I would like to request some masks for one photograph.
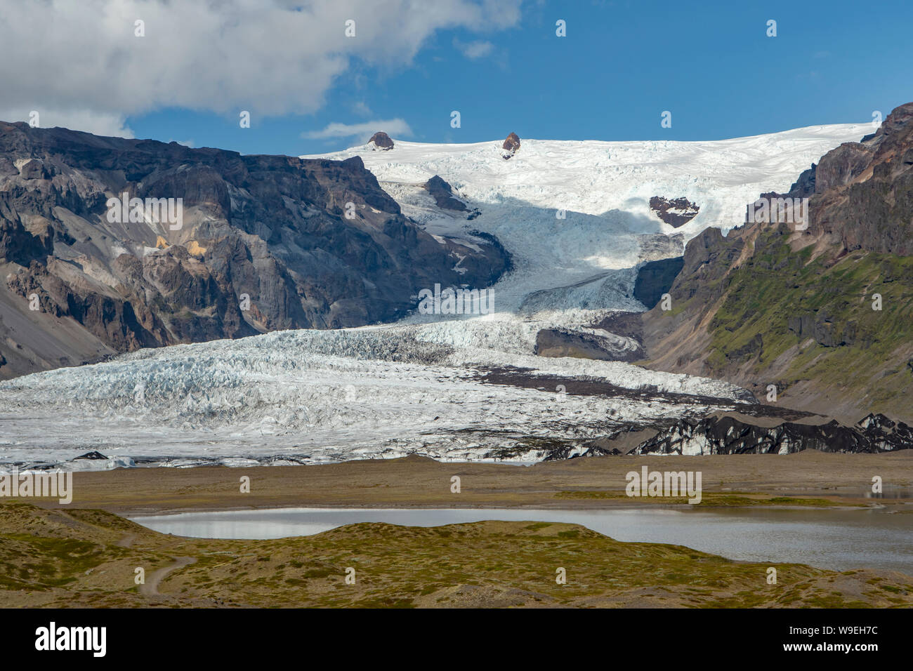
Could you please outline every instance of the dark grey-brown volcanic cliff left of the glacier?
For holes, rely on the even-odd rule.
[[[112,222],[121,194],[180,198],[182,221]],[[422,288],[494,282],[508,259],[488,240],[477,247],[426,234],[357,157],[0,122],[0,378],[140,347],[394,320]]]

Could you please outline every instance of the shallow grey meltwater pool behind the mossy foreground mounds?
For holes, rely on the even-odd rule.
[[[913,511],[890,513],[880,508],[268,508],[131,519],[162,533],[219,539],[308,536],[358,522],[413,527],[483,519],[569,522],[615,540],[685,545],[733,560],[913,575]]]

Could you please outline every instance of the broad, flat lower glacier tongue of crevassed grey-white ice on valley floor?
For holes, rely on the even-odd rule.
[[[523,324],[510,333],[492,321],[507,344],[488,349],[467,342],[458,323],[280,331],[16,378],[0,383],[0,449],[5,461],[19,463],[66,461],[88,450],[176,464],[413,452],[537,461],[550,454],[542,441],[580,446],[623,420],[673,419],[708,407],[669,401],[668,393],[718,397],[720,406],[740,397],[737,387],[703,378],[518,353]],[[504,367],[551,382],[542,390],[483,381]],[[652,385],[656,393],[577,395],[581,380],[632,391]]]

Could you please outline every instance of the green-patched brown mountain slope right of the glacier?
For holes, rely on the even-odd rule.
[[[850,423],[870,412],[909,422],[913,103],[828,152],[788,195],[810,198],[805,230],[762,221],[690,241],[672,309],[638,327],[648,365],[761,400],[772,384],[776,403]]]

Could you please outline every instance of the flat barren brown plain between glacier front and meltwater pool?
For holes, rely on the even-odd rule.
[[[913,485],[913,450],[893,454],[600,456],[530,467],[440,463],[420,456],[291,467],[132,468],[74,474],[72,506],[118,514],[284,506],[593,508],[656,505],[627,498],[625,474],[647,466],[700,471],[700,505],[814,498],[834,505],[903,505],[907,498],[866,498],[872,478],[889,488]],[[451,492],[451,477],[460,492]],[[240,478],[250,478],[242,494]],[[57,507],[50,499],[38,505]],[[778,501],[782,505],[782,501]],[[801,505],[801,501],[796,501]],[[687,505],[687,504],[685,504]]]

